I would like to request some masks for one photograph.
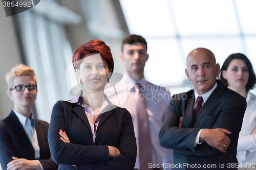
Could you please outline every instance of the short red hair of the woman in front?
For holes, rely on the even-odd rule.
[[[99,39],[94,39],[92,41],[84,43],[76,49],[72,56],[72,62],[75,70],[79,69],[80,67],[80,62],[77,61],[83,59],[85,54],[91,53],[100,53],[101,57],[103,57],[108,63],[109,69],[112,68],[111,72],[113,72],[114,60],[111,54],[110,47],[106,45],[104,41],[101,41]]]

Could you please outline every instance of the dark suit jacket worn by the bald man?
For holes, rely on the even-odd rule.
[[[225,87],[221,81],[217,80],[217,83],[217,88],[200,109],[194,125],[192,120],[194,90],[175,94],[172,97],[168,115],[159,133],[159,141],[162,147],[174,149],[174,164],[178,167],[176,169],[185,169],[185,166],[178,166],[179,163],[200,164],[201,168],[204,164],[216,164],[215,169],[229,169],[229,167],[237,169],[232,168],[234,166],[231,165],[238,162],[237,143],[246,110],[246,100]],[[178,128],[181,116],[183,117],[182,128]],[[231,143],[226,153],[210,147],[206,142],[197,144],[194,148],[194,140],[199,130],[205,128],[223,128],[231,132],[231,135],[228,135]],[[223,163],[225,168],[220,168],[220,164]],[[190,169],[189,166],[187,169]],[[200,169],[199,166],[196,169]]]

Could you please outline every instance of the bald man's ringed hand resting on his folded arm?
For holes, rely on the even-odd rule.
[[[227,135],[230,135],[226,129],[203,129],[200,134],[199,142],[205,141],[211,147],[218,149],[219,151],[226,153],[227,148],[231,142]]]

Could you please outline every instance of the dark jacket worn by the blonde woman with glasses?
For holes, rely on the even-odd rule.
[[[35,124],[40,148],[39,161],[45,170],[57,169],[58,165],[51,159],[47,139],[49,124],[39,119],[35,119]],[[12,156],[35,160],[34,148],[13,111],[0,122],[0,163],[4,170],[7,168],[7,164],[13,160]]]

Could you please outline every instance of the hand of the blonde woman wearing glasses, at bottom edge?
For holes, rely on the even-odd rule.
[[[20,170],[32,170],[36,169],[39,170],[41,169],[39,163],[37,160],[28,160],[28,159],[23,159],[23,158],[16,158],[12,157],[13,161],[9,162],[7,164],[7,169],[8,170],[15,170],[15,169],[20,169]]]

